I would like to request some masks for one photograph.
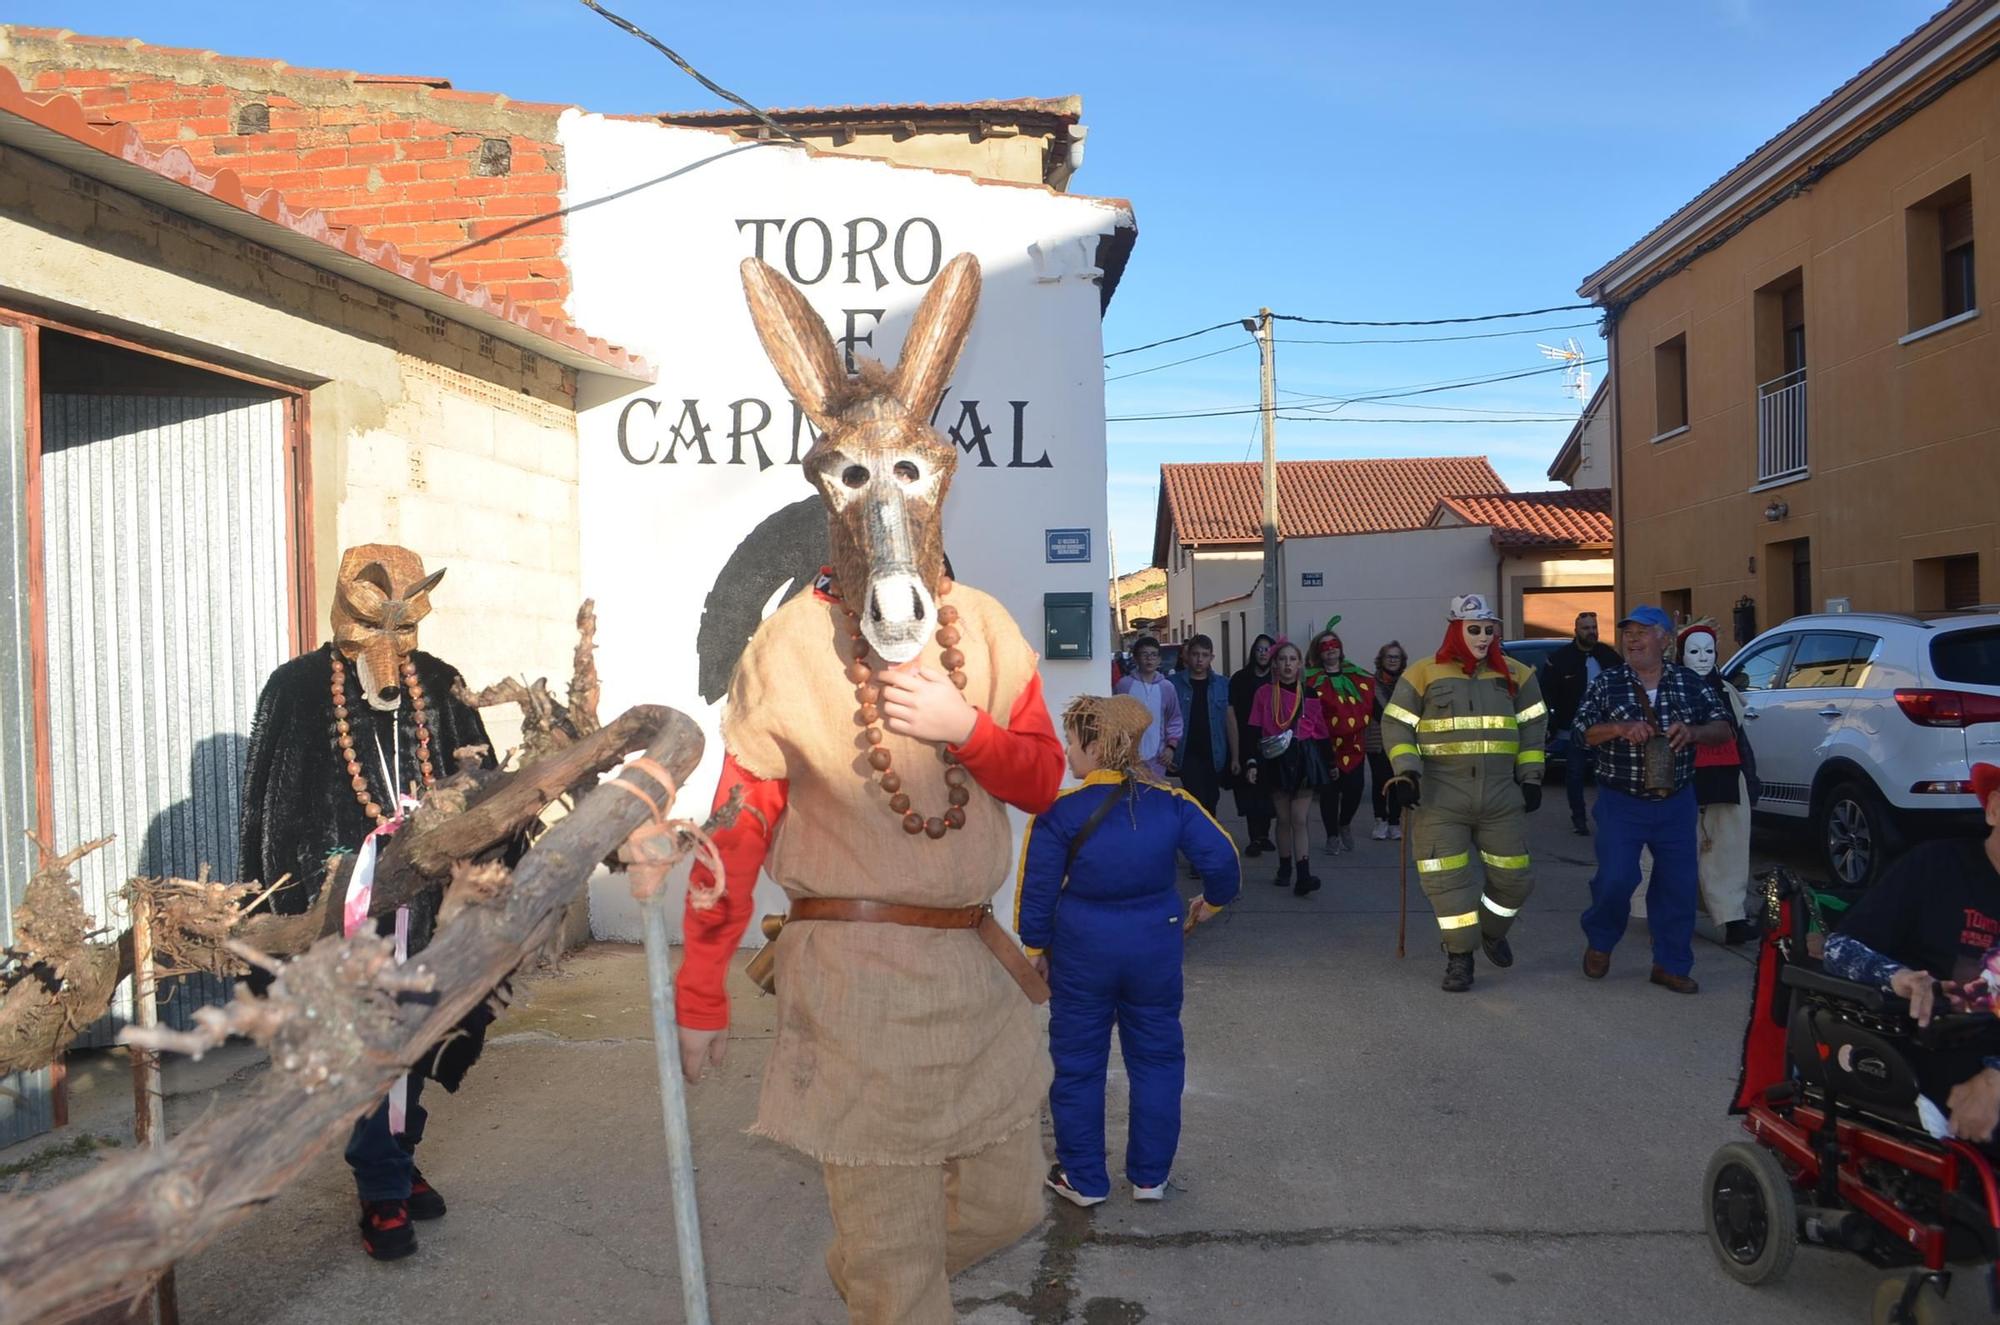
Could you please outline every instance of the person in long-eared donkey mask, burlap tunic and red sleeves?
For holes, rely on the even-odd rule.
[[[806,478],[832,566],[750,638],[722,715],[720,901],[692,875],[676,977],[682,1069],[722,1061],[722,977],[762,867],[790,899],[774,939],[778,1031],[754,1133],[820,1161],[826,1269],[868,1325],[946,1325],[950,1275],[1044,1213],[1048,987],[992,917],[1006,807],[1062,783],[1036,654],[1006,608],[944,570],[956,450],[928,424],[978,304],[944,266],[894,370],[842,370],[804,294],[742,264],[764,350],[820,430]],[[766,921],[766,929],[770,921]]]

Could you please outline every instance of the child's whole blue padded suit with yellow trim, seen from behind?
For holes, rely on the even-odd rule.
[[[1124,803],[1096,827],[1064,887],[1070,839],[1106,797]],[[1104,1167],[1104,1071],[1112,1025],[1132,1087],[1126,1177],[1158,1187],[1180,1145],[1188,1059],[1180,1035],[1182,911],[1176,853],[1202,877],[1212,907],[1236,899],[1236,845],[1188,793],[1092,773],[1028,825],[1014,929],[1048,953],[1048,1049],[1056,1081],[1056,1157],[1076,1191],[1110,1195]]]

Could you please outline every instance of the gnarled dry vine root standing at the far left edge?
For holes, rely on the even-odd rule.
[[[14,909],[14,939],[0,949],[0,1077],[50,1061],[50,1045],[66,1045],[102,1017],[118,989],[120,943],[92,929],[70,867],[104,847],[108,837],[56,855],[36,847],[34,877]]]

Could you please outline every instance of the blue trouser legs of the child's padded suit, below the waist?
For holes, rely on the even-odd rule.
[[[1064,897],[1048,949],[1048,1049],[1056,1079],[1048,1111],[1056,1159],[1076,1191],[1110,1195],[1104,1167],[1104,1075],[1112,1027],[1124,1053],[1132,1107],[1126,1177],[1158,1187],[1180,1147],[1180,1091],[1188,1057],[1180,1035],[1180,919],[1176,893],[1124,903]]]

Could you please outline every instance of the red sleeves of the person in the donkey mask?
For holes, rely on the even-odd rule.
[[[1056,803],[1064,753],[1042,699],[1040,677],[1022,687],[1006,727],[982,711],[966,743],[950,751],[974,783],[1018,811],[1040,815]],[[674,977],[674,1003],[676,1021],[690,1031],[724,1031],[730,1025],[724,977],[750,925],[756,877],[764,869],[764,855],[790,797],[786,779],[754,777],[738,767],[734,755],[724,753],[716,807],[722,807],[738,787],[744,793],[744,811],[714,839],[722,857],[722,903],[710,911],[688,907],[682,925],[686,951]],[[706,887],[714,875],[696,865],[694,879]]]

